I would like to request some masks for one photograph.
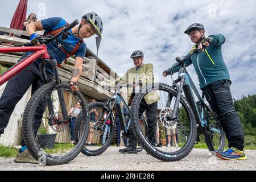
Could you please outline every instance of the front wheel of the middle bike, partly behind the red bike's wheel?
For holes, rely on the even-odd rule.
[[[89,134],[81,153],[86,156],[97,156],[102,154],[112,142],[114,136],[113,114],[110,113],[108,118],[110,120],[110,125],[106,126],[104,123],[104,114],[109,113],[108,106],[102,102],[92,102],[88,104],[87,107],[89,111],[92,109],[97,110],[98,117],[96,117],[95,122],[90,121]],[[82,113],[79,114],[79,117],[77,117],[76,120],[75,134],[77,140],[80,139],[80,127],[83,125],[81,124],[81,121],[84,121],[84,115],[82,115]],[[88,144],[89,142],[90,144]]]

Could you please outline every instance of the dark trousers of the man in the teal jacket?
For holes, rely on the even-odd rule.
[[[203,88],[203,92],[210,107],[216,112],[218,121],[225,131],[229,147],[243,150],[244,134],[242,123],[234,109],[230,81],[220,80]]]

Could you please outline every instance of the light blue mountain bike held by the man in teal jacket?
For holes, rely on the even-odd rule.
[[[163,161],[177,161],[185,158],[191,152],[194,144],[199,142],[199,136],[204,135],[205,143],[210,151],[224,150],[225,133],[217,120],[217,115],[204,102],[185,68],[185,61],[200,51],[195,49],[185,57],[177,57],[177,64],[172,70],[180,67],[177,80],[172,86],[154,83],[144,86],[141,93],[136,94],[131,106],[131,118],[134,133],[144,150]],[[172,75],[172,73],[171,73]],[[178,84],[179,83],[179,84]],[[149,93],[159,94],[158,119],[162,123],[162,131],[172,138],[173,146],[155,147],[142,132],[138,117],[143,98]],[[184,96],[183,96],[184,93]],[[194,95],[195,93],[195,95]],[[195,96],[199,101],[196,102]],[[167,132],[168,131],[168,132]],[[168,141],[170,142],[170,141]],[[175,143],[175,144],[174,144]]]

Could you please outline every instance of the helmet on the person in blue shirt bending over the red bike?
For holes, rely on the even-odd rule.
[[[94,12],[88,13],[84,16],[82,16],[83,19],[85,19],[87,22],[92,24],[92,27],[96,31],[96,34],[100,37],[102,37],[102,31],[103,31],[103,23],[101,20],[101,17],[97,15]]]

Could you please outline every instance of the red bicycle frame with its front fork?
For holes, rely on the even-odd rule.
[[[21,72],[23,69],[27,68],[29,65],[31,65],[35,60],[37,59],[42,59],[42,64],[40,65],[40,70],[43,74],[43,81],[44,84],[47,83],[47,76],[46,76],[46,71],[45,71],[45,64],[46,63],[51,63],[53,67],[53,72],[55,75],[55,80],[56,84],[61,84],[61,81],[59,79],[59,73],[57,71],[57,62],[56,60],[51,60],[49,57],[49,53],[47,50],[46,45],[41,45],[41,46],[36,46],[36,47],[7,47],[7,48],[0,48],[0,53],[10,53],[10,52],[34,52],[32,55],[29,55],[22,61],[16,63],[13,67],[8,69],[6,72],[4,72],[0,76],[0,85],[5,84],[5,82],[9,81],[11,78],[13,78],[15,75],[17,75],[19,72]],[[68,121],[68,113],[67,113],[67,108],[65,106],[65,101],[64,101],[64,90],[62,88],[57,88],[57,93],[59,96],[60,100],[60,106],[61,106],[61,112],[63,114],[63,119],[64,121]],[[51,101],[51,97],[47,96],[47,102],[48,102],[48,109],[51,111],[51,114],[54,113],[53,111],[53,105]]]

